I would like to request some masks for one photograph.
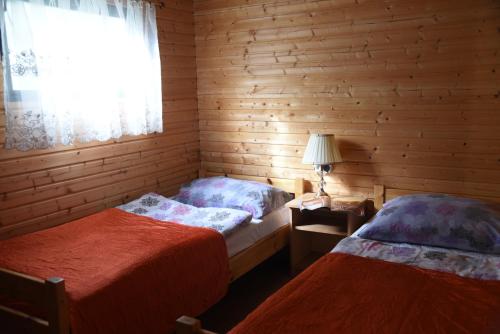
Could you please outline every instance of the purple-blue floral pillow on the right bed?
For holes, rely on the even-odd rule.
[[[500,254],[500,206],[449,195],[387,202],[361,238]]]

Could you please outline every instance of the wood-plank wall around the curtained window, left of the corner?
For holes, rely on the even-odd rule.
[[[181,183],[197,176],[193,4],[186,0],[155,3],[164,132],[30,152],[1,148],[0,238],[60,224],[144,192],[173,194]],[[2,146],[4,125],[2,103]]]

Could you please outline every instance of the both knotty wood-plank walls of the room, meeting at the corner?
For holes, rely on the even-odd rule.
[[[192,6],[157,7],[164,133],[0,149],[0,238],[173,194],[200,159],[212,172],[315,179],[301,164],[310,132],[338,138],[331,193],[500,195],[498,0]],[[2,109],[0,144],[4,124]]]

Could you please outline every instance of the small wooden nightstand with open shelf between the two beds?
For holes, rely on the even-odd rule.
[[[300,211],[300,201],[313,198],[308,193],[287,203],[290,214],[290,265],[298,273],[328,253],[343,238],[367,220],[366,198],[331,196],[333,208]],[[342,205],[348,203],[349,205]]]

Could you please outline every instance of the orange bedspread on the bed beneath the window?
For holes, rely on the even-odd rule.
[[[0,267],[64,278],[74,334],[168,333],[230,277],[221,234],[118,209],[1,241]]]

